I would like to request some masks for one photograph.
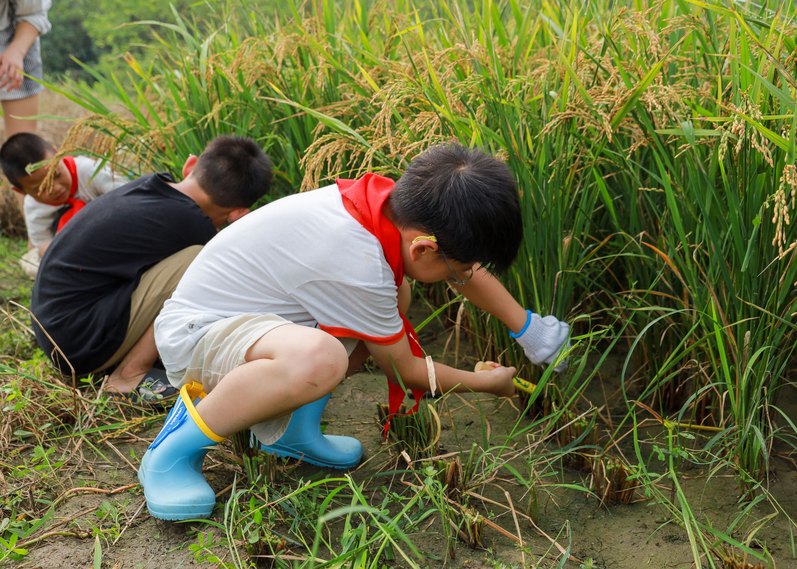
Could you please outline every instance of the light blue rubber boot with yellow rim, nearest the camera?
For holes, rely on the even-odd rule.
[[[199,383],[180,390],[163,429],[141,459],[139,482],[147,508],[159,520],[209,518],[216,495],[202,476],[206,447],[224,440],[199,417],[191,397],[205,396]]]

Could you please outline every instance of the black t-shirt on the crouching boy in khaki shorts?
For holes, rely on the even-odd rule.
[[[216,234],[194,200],[151,174],[89,202],[50,243],[30,309],[78,374],[96,370],[124,342],[130,296],[159,261]],[[39,346],[62,373],[69,365],[33,321]]]

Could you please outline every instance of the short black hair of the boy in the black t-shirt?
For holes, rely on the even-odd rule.
[[[271,186],[271,160],[253,139],[217,136],[192,172],[217,206],[249,207]]]

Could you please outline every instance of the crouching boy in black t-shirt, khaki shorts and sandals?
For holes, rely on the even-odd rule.
[[[269,190],[271,163],[253,140],[219,136],[189,156],[183,176],[145,175],[100,196],[49,245],[30,308],[61,373],[118,363],[112,394],[157,402],[175,393],[152,369],[155,316],[202,245]]]

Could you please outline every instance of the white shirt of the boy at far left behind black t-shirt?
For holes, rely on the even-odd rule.
[[[77,191],[75,198],[82,199],[84,202],[91,202],[92,199],[99,198],[102,194],[107,194],[119,186],[124,186],[130,180],[114,175],[111,168],[107,165],[100,168],[101,161],[88,156],[75,156],[75,169],[77,170]],[[94,175],[96,172],[96,176]],[[92,179],[92,176],[94,178]],[[89,181],[90,180],[90,181]],[[25,225],[28,228],[28,237],[33,245],[39,246],[47,241],[53,241],[53,221],[55,221],[58,210],[64,205],[49,206],[46,203],[37,202],[33,196],[27,194],[23,201],[25,210]]]

